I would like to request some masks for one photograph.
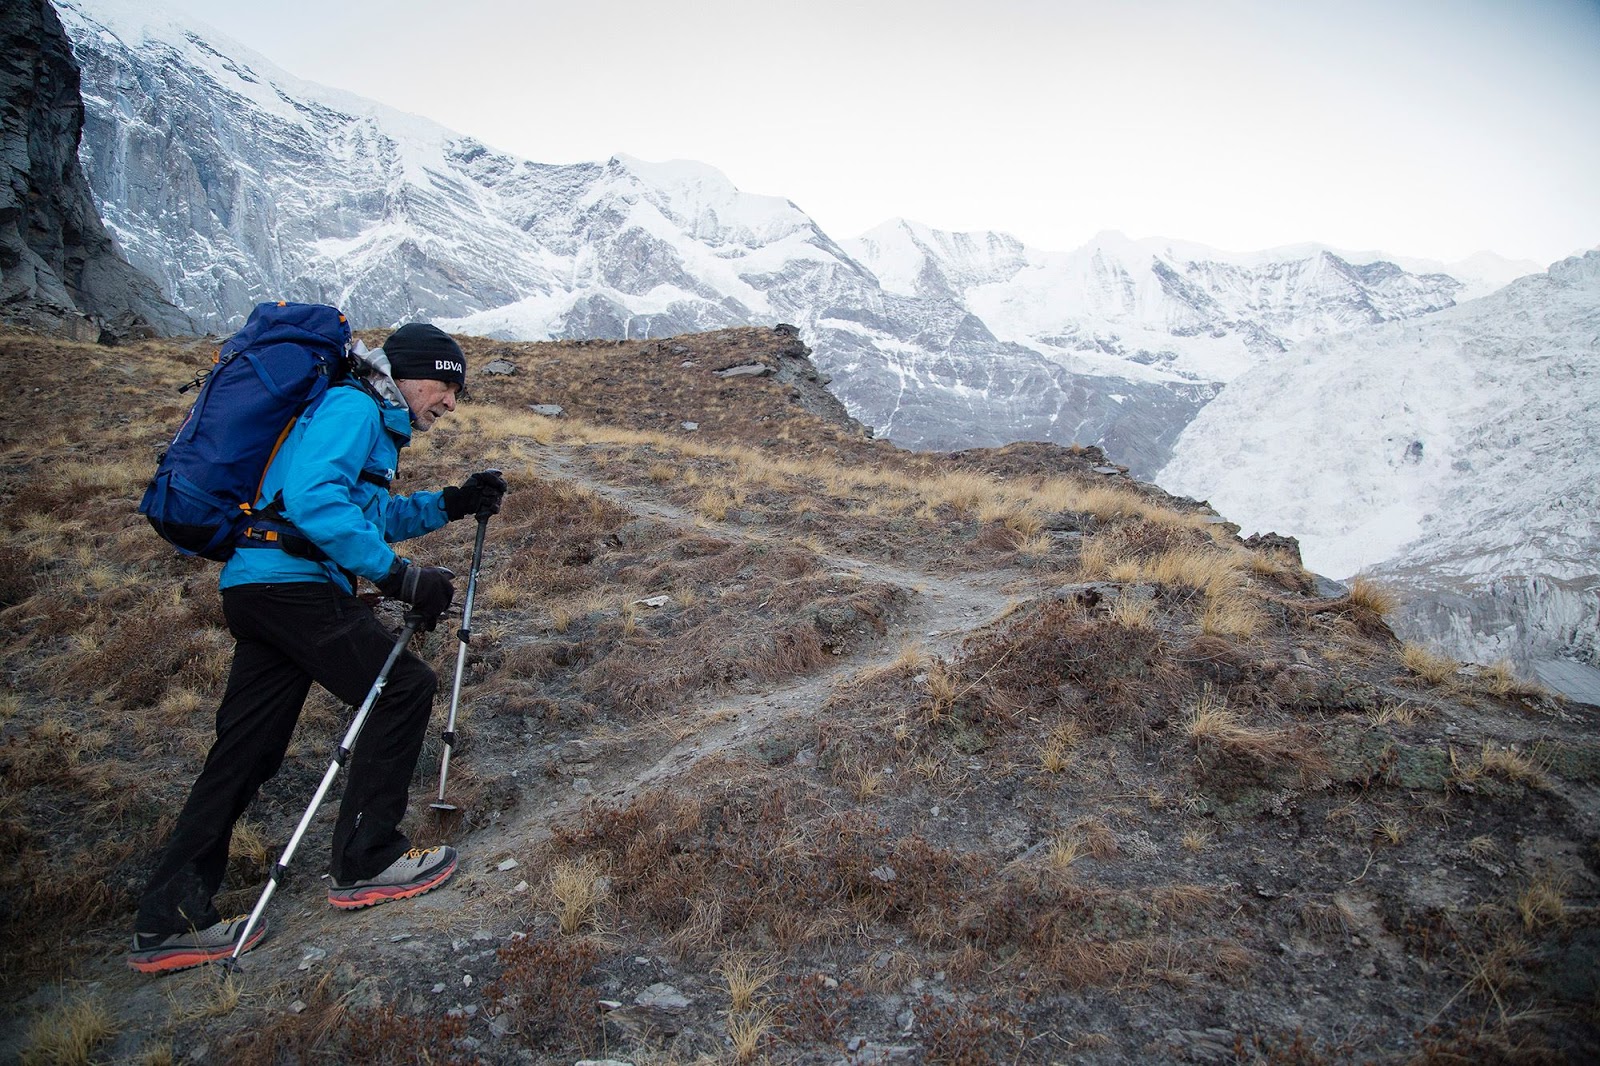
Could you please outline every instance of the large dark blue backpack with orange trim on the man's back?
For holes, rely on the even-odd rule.
[[[222,562],[251,519],[261,479],[294,419],[349,371],[350,323],[323,304],[258,304],[162,453],[139,514],[184,555]]]

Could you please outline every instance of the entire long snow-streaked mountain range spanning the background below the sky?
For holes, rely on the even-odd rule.
[[[1538,269],[1115,235],[1043,253],[910,222],[842,245],[701,163],[534,163],[294,78],[150,0],[58,6],[102,216],[216,331],[266,298],[517,339],[790,322],[851,415],[898,443],[1099,443],[1149,474],[1222,383],[1301,338]]]

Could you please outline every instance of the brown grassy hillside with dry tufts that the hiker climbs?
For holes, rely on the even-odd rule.
[[[786,333],[466,347],[475,395],[400,483],[512,482],[462,812],[421,802],[430,743],[410,820],[462,871],[333,912],[318,818],[240,975],[147,980],[133,896],[230,642],[214,568],[134,504],[211,344],[0,335],[51,413],[0,426],[0,1055],[1600,1053],[1594,707],[1400,645],[1379,591],[1320,599],[1293,541],[1094,450],[870,440]],[[414,554],[469,552],[458,525]],[[450,627],[419,645],[450,677]],[[342,719],[314,696],[224,912]]]

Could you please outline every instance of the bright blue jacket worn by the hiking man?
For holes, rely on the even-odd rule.
[[[275,546],[240,546],[222,567],[221,586],[331,581],[354,592],[341,570],[368,581],[384,578],[397,557],[390,544],[450,520],[442,493],[389,495],[400,448],[408,443],[411,411],[403,402],[378,400],[355,384],[328,389],[322,403],[294,423],[256,501],[261,507],[282,493],[283,517],[328,560],[299,559]]]

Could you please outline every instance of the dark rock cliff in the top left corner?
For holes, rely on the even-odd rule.
[[[78,67],[48,0],[0,0],[0,320],[114,343],[192,330],[128,266],[78,166]]]

